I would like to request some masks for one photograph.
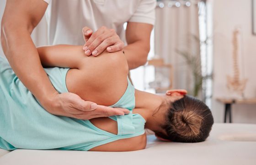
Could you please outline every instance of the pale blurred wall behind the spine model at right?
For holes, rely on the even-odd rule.
[[[223,122],[224,105],[217,97],[229,97],[226,76],[232,70],[232,32],[240,27],[241,51],[244,60],[244,77],[248,78],[245,97],[256,97],[256,35],[252,35],[251,0],[210,0],[213,4],[213,115],[215,122]],[[256,105],[234,105],[233,122],[256,123]]]

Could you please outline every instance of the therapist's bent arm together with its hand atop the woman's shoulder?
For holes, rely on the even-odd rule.
[[[106,49],[108,52],[115,52],[124,48],[129,70],[132,70],[147,62],[152,29],[153,25],[150,24],[128,22],[126,28],[128,45],[124,47],[123,41],[120,40],[115,30],[102,26],[93,33],[89,27],[85,26],[83,28],[85,39],[83,50],[85,55],[97,56]]]

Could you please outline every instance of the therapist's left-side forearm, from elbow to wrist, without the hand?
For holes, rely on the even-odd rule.
[[[43,70],[29,30],[3,26],[1,44],[15,74],[39,101],[57,94]]]

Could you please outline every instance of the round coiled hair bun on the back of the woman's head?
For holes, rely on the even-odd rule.
[[[194,111],[181,110],[173,113],[173,126],[177,134],[183,137],[196,137],[200,134],[202,116]]]

